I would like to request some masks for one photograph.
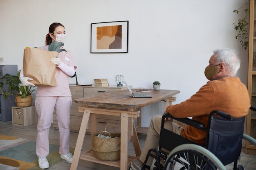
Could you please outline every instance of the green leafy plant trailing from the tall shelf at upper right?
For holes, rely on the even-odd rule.
[[[235,9],[233,13],[239,13],[239,9]],[[250,1],[247,0],[245,3],[245,16],[241,19],[238,20],[238,23],[233,23],[234,29],[238,31],[236,34],[236,39],[239,41],[242,45],[242,47],[246,50],[249,45],[249,40],[248,40],[248,26],[249,23],[247,22],[248,14],[250,11]]]

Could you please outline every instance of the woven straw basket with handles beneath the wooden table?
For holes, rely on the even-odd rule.
[[[105,130],[100,133],[94,133],[92,150],[96,158],[103,161],[117,161],[120,160],[120,139],[121,133],[110,133],[106,131],[106,127],[114,124],[107,124]],[[99,134],[109,136],[109,139],[97,137]],[[115,138],[116,137],[116,138]]]

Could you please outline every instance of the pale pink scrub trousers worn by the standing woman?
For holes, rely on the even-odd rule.
[[[49,155],[49,130],[54,108],[59,128],[59,153],[66,154],[70,149],[71,96],[38,96],[36,97],[35,104],[36,112],[39,116],[36,137],[36,155],[38,157],[47,157]]]

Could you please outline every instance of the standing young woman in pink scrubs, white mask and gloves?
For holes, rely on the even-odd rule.
[[[36,155],[41,169],[49,168],[46,157],[49,155],[49,129],[54,108],[59,128],[59,153],[61,158],[68,163],[72,163],[73,159],[72,154],[69,152],[70,108],[72,105],[69,77],[75,74],[76,64],[72,52],[63,48],[64,41],[65,27],[60,23],[53,23],[49,26],[49,33],[46,35],[46,46],[40,47],[40,49],[48,51],[55,51],[56,47],[59,48],[58,57],[51,59],[51,62],[56,65],[55,78],[57,86],[38,86],[36,92],[35,105],[40,120],[37,128]],[[22,69],[20,73],[21,83],[24,86],[35,86],[28,80],[32,79],[25,77]]]

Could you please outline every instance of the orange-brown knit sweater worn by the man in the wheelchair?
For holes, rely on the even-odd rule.
[[[240,79],[222,77],[207,82],[190,99],[170,105],[166,111],[177,118],[193,117],[193,120],[200,121],[206,127],[212,110],[220,110],[234,117],[243,117],[248,114],[249,108],[249,94]],[[203,145],[206,132],[186,125],[181,136]]]

